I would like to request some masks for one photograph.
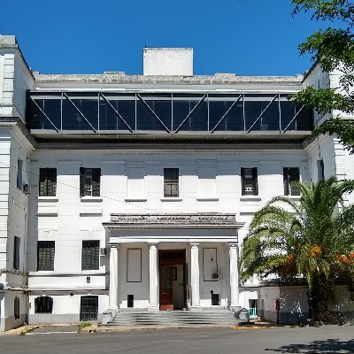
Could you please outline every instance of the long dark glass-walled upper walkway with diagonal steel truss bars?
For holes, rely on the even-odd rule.
[[[31,130],[156,132],[311,131],[312,110],[287,94],[29,92]]]

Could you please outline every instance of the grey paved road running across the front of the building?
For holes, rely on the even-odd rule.
[[[124,333],[1,336],[14,354],[272,354],[354,353],[354,326],[261,329],[193,328]]]

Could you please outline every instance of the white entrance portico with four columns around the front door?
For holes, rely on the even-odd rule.
[[[237,307],[242,225],[235,215],[219,213],[112,214],[104,223],[111,246],[110,309]]]

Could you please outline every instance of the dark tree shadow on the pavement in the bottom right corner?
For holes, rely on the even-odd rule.
[[[354,353],[354,339],[340,341],[327,339],[326,341],[313,341],[308,344],[289,344],[277,349],[266,349],[279,353],[308,353],[308,354],[352,354]]]

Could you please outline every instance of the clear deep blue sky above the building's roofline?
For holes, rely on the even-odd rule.
[[[321,23],[290,0],[0,0],[0,34],[16,35],[41,73],[142,73],[142,48],[192,47],[195,74],[294,75]]]

